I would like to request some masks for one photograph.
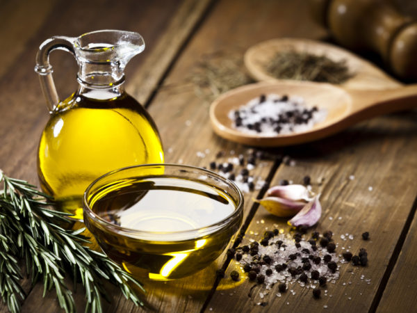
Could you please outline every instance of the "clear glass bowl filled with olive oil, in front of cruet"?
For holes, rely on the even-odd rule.
[[[83,215],[106,255],[133,277],[171,280],[222,253],[242,223],[243,195],[209,170],[147,164],[92,182]]]

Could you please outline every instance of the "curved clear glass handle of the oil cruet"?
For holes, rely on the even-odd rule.
[[[74,41],[76,38],[65,36],[54,36],[42,42],[40,45],[38,54],[36,54],[36,66],[35,72],[39,74],[40,88],[47,100],[47,106],[51,113],[56,108],[56,105],[60,102],[54,79],[52,78],[51,64],[49,63],[49,54],[55,49],[65,50],[75,56]]]

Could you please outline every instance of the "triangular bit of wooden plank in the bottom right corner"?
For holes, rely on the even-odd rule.
[[[416,204],[414,204],[416,205]],[[417,307],[417,219],[415,216],[407,233],[398,260],[377,306],[377,312],[415,312]],[[398,251],[395,251],[398,253]]]

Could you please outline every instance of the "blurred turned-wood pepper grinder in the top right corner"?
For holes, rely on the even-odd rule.
[[[383,0],[310,0],[313,17],[341,45],[377,52],[404,81],[417,81],[417,21]]]

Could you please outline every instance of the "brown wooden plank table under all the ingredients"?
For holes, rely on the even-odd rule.
[[[270,38],[326,35],[311,21],[304,0],[2,1],[0,8],[0,168],[32,183],[38,182],[35,156],[48,119],[33,66],[46,38],[96,29],[141,33],[147,49],[129,63],[126,89],[154,118],[167,162],[208,166],[219,151],[245,154],[249,147],[213,134],[208,120],[213,93],[193,83],[201,63],[232,55],[241,60],[245,49]],[[51,63],[60,95],[70,95],[76,89],[74,59],[57,51]],[[238,62],[239,71],[244,69]],[[265,288],[245,274],[232,283],[229,273],[238,266],[222,255],[189,278],[144,282],[147,303],[161,312],[416,312],[416,121],[416,112],[409,111],[363,122],[316,143],[270,150],[290,156],[295,164],[266,160],[252,171],[271,185],[280,179],[300,183],[310,175],[313,188],[322,193],[316,230],[332,230],[335,241],[349,244],[353,252],[368,250],[368,266],[342,266],[326,296],[315,300],[311,290],[294,284],[295,295],[277,297],[275,286],[261,298]],[[245,194],[245,242],[260,239],[266,227],[288,230],[286,220],[252,201],[264,191]],[[361,240],[365,231],[370,241]],[[354,239],[345,243],[340,237],[345,233]],[[221,267],[227,268],[226,277],[218,281],[215,271]],[[23,312],[60,312],[54,292],[42,298],[41,284],[22,283],[28,294]],[[83,312],[78,290],[75,298]],[[106,312],[142,311],[116,289],[110,294],[113,302],[105,305]],[[7,312],[6,305],[1,303],[0,310]]]

